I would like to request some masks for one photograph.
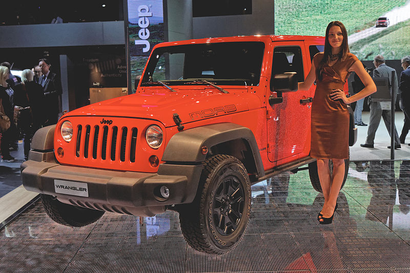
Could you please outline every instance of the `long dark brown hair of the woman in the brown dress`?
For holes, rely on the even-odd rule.
[[[327,25],[326,28],[326,35],[324,38],[324,51],[323,51],[323,59],[319,62],[319,66],[316,69],[316,74],[319,77],[319,80],[322,80],[322,72],[324,66],[328,65],[331,62],[331,55],[332,55],[332,46],[329,43],[329,31],[331,27],[337,26],[340,27],[340,30],[342,31],[343,35],[343,41],[342,41],[342,46],[340,50],[340,56],[338,58],[339,60],[345,60],[347,58],[347,53],[349,53],[349,45],[347,44],[347,31],[342,22],[339,21],[333,21],[330,22],[329,25]]]

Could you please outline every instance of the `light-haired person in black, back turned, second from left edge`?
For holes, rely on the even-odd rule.
[[[14,104],[20,110],[18,126],[23,132],[24,158],[28,159],[31,138],[44,123],[43,87],[33,81],[34,73],[30,69],[22,72],[22,82],[14,87]]]

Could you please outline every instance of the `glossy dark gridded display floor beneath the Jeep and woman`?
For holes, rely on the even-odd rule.
[[[351,162],[330,225],[308,171],[254,185],[247,231],[221,256],[190,248],[175,212],[71,228],[37,202],[0,231],[0,272],[410,272],[410,161],[390,165]]]

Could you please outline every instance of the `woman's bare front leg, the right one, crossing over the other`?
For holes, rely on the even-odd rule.
[[[322,214],[324,218],[332,217],[337,197],[339,196],[340,188],[344,178],[344,159],[332,159],[333,161],[333,177],[332,185],[330,187],[329,196],[327,202],[323,206]]]

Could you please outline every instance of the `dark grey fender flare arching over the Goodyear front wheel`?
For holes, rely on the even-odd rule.
[[[262,158],[253,132],[249,128],[235,123],[204,125],[176,133],[168,142],[162,161],[200,163],[207,157],[201,153],[202,146],[207,146],[210,149],[214,145],[236,139],[243,139],[249,144],[256,174],[259,177],[264,176]]]

